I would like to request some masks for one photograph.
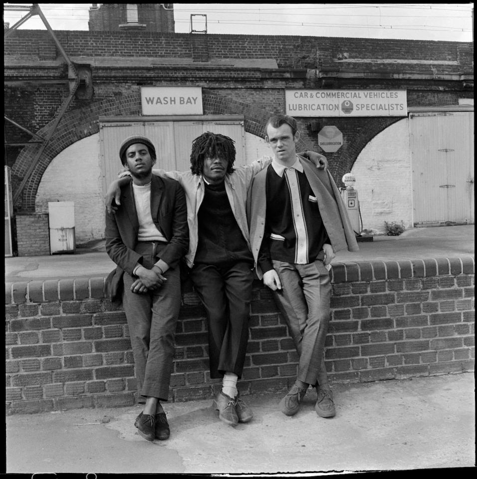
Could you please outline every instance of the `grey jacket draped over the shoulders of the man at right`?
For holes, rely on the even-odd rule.
[[[333,251],[336,252],[341,249],[357,251],[359,248],[356,235],[351,227],[348,213],[331,174],[328,170],[317,169],[312,162],[305,158],[300,156],[298,158],[303,165],[303,172],[308,179],[310,187],[316,196],[323,225],[328,233]],[[265,169],[255,175],[247,196],[250,246],[259,279],[263,277],[257,259],[265,231],[266,172],[267,170]]]

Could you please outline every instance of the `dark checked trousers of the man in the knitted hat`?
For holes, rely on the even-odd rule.
[[[136,251],[143,255],[143,266],[150,268],[164,247],[140,242]],[[156,250],[157,248],[157,250]],[[174,336],[181,307],[179,266],[168,269],[167,281],[156,291],[137,294],[130,291],[135,277],[124,272],[123,307],[128,321],[134,366],[141,396],[167,401],[173,369]]]

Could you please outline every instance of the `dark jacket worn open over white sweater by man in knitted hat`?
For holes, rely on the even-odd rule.
[[[160,259],[173,267],[189,247],[186,200],[184,190],[177,181],[153,175],[151,215],[168,241]],[[106,210],[106,252],[118,265],[117,274],[127,271],[132,275],[136,264],[142,263],[142,255],[135,251],[138,232],[139,221],[131,181],[121,187],[121,205],[116,214],[109,214]]]

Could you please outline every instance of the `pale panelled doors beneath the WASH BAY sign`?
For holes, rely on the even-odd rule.
[[[237,150],[235,165],[245,165],[245,132],[241,120],[100,122],[103,195],[123,168],[119,159],[119,147],[128,136],[145,135],[153,142],[156,147],[158,168],[167,171],[188,171],[191,168],[192,142],[206,131],[232,138]]]

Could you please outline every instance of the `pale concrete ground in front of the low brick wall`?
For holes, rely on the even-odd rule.
[[[293,417],[278,410],[281,395],[244,396],[254,418],[236,428],[218,419],[210,400],[164,403],[168,441],[137,434],[140,406],[8,416],[6,472],[319,475],[475,467],[473,373],[332,389],[332,419],[316,415],[310,389]]]

